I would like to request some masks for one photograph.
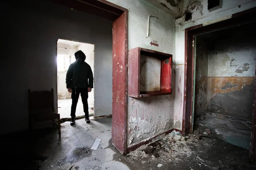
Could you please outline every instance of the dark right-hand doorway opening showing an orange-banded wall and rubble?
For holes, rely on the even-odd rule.
[[[215,133],[247,150],[255,86],[255,29],[255,23],[247,23],[195,36],[192,130]]]

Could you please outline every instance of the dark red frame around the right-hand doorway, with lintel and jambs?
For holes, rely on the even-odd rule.
[[[195,36],[210,31],[216,31],[231,26],[256,21],[256,8],[251,8],[233,14],[228,20],[213,23],[207,26],[203,24],[185,29],[185,76],[184,76],[184,102],[183,102],[183,135],[192,132],[192,107],[193,107],[193,86],[194,86],[194,44]],[[256,82],[255,82],[256,84]],[[256,161],[256,86],[254,88],[253,116],[252,116],[252,137],[250,144],[250,159]]]

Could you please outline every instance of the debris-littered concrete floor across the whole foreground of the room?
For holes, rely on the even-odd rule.
[[[182,137],[179,132],[173,131],[169,135],[154,139],[150,144],[143,145],[126,156],[121,155],[112,146],[111,139],[108,144],[105,142],[105,147],[99,147],[94,152],[89,147],[84,147],[91,146],[90,142],[85,142],[83,147],[71,146],[70,144],[74,144],[73,140],[80,142],[88,140],[84,135],[89,134],[90,130],[85,128],[89,125],[84,126],[84,121],[79,120],[77,127],[71,127],[68,122],[66,126],[64,123],[60,141],[58,141],[57,129],[51,130],[51,133],[48,130],[37,133],[36,139],[24,133],[5,135],[1,136],[0,141],[3,146],[2,169],[39,170],[44,164],[49,164],[49,168],[54,168],[52,166],[56,162],[59,169],[67,166],[68,169],[76,167],[77,170],[111,170],[111,164],[122,162],[130,170],[256,170],[256,165],[249,161],[248,150],[225,142],[221,137],[222,129],[216,130],[208,127],[206,120],[201,121],[204,126],[195,124],[193,134]],[[102,125],[105,127],[105,124]],[[90,125],[92,128],[94,126]],[[84,130],[82,130],[83,127]],[[96,129],[96,126],[93,129]],[[101,129],[98,131],[101,133]],[[73,135],[70,135],[70,132]],[[95,131],[90,135],[94,133]],[[79,146],[80,142],[78,142]],[[42,144],[41,147],[39,147],[40,144]],[[106,153],[114,153],[113,158],[106,159],[108,156]],[[84,157],[88,157],[88,161],[78,164]],[[103,163],[105,163],[104,168],[101,166]]]

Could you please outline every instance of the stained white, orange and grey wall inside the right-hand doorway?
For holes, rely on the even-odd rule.
[[[247,33],[248,28],[255,29],[239,26],[197,36],[196,116],[209,111],[251,119],[256,36]]]

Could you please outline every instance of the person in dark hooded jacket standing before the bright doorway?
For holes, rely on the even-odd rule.
[[[76,105],[80,94],[84,106],[85,120],[90,123],[87,99],[88,92],[91,92],[93,88],[93,72],[90,65],[84,62],[86,59],[85,54],[79,50],[75,53],[75,57],[76,61],[69,66],[66,76],[67,91],[72,93],[70,125],[75,124]]]

